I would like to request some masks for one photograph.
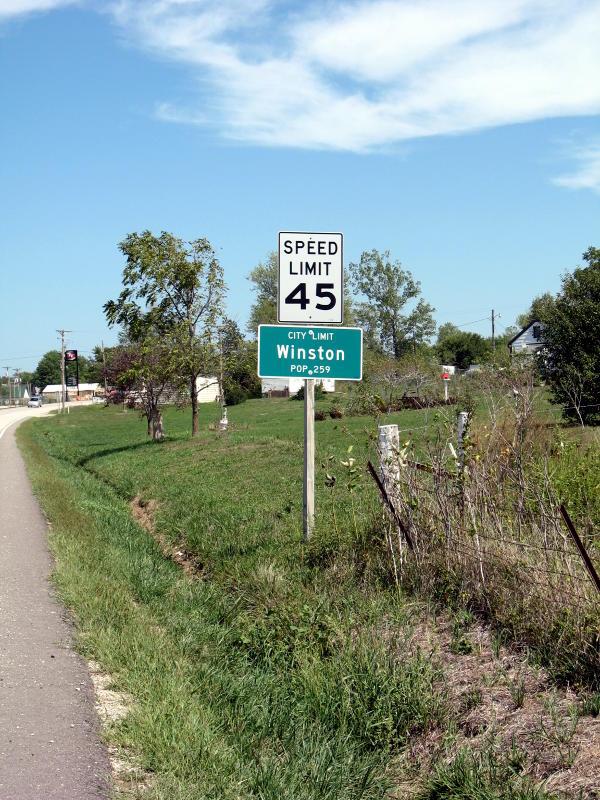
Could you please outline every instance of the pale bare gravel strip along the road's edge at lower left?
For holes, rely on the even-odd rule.
[[[112,685],[110,675],[103,672],[96,661],[88,661],[88,668],[94,686],[96,711],[102,728],[107,730],[127,716],[133,705],[133,699],[125,692],[117,692],[110,688]],[[109,744],[108,758],[117,796],[132,797],[150,787],[152,776],[144,772],[130,753]]]

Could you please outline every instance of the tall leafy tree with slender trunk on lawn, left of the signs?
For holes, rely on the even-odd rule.
[[[183,242],[171,233],[131,233],[119,248],[127,258],[119,298],[104,312],[109,325],[124,325],[133,341],[149,330],[168,335],[174,369],[188,386],[192,404],[192,435],[200,430],[196,380],[214,373],[218,364],[217,334],[223,314],[223,269],[207,239]]]

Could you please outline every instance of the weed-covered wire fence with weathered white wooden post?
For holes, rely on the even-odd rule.
[[[588,521],[580,537],[557,495],[533,388],[522,375],[494,386],[487,424],[462,442],[448,414],[423,461],[396,428],[369,472],[390,512],[394,580],[465,602],[563,677],[598,682],[600,532]]]

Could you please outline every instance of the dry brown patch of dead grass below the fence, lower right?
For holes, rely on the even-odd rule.
[[[399,787],[400,796],[414,794],[415,781],[440,758],[449,762],[470,746],[514,755],[522,774],[548,791],[600,798],[600,718],[582,716],[574,692],[553,686],[543,669],[501,646],[477,621],[457,626],[445,614],[426,618],[407,643],[441,665],[456,725],[411,739],[403,766],[418,767]]]

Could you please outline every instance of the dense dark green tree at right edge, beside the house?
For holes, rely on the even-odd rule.
[[[542,351],[555,402],[582,425],[600,416],[600,249],[589,247],[583,259],[544,317]]]

